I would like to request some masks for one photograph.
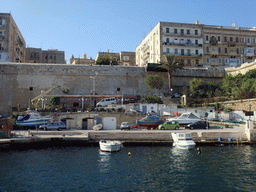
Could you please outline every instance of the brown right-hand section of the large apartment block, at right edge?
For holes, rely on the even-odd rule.
[[[204,25],[204,67],[238,67],[256,56],[256,29]]]

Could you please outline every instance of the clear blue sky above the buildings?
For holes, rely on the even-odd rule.
[[[160,21],[256,27],[256,0],[6,0],[28,47],[96,58],[131,51]]]

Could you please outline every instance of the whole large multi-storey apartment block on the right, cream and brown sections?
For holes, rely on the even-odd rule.
[[[255,59],[256,29],[159,22],[136,48],[136,64],[174,55],[186,68],[239,66]]]

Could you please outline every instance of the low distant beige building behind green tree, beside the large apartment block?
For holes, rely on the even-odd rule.
[[[135,66],[135,52],[124,52],[121,51],[120,53],[110,53],[108,52],[99,52],[96,57],[96,61],[99,57],[110,57],[114,58],[118,61],[119,65],[122,66]]]

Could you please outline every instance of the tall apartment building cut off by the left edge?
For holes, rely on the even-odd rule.
[[[0,13],[0,62],[24,62],[26,42],[10,13]]]

